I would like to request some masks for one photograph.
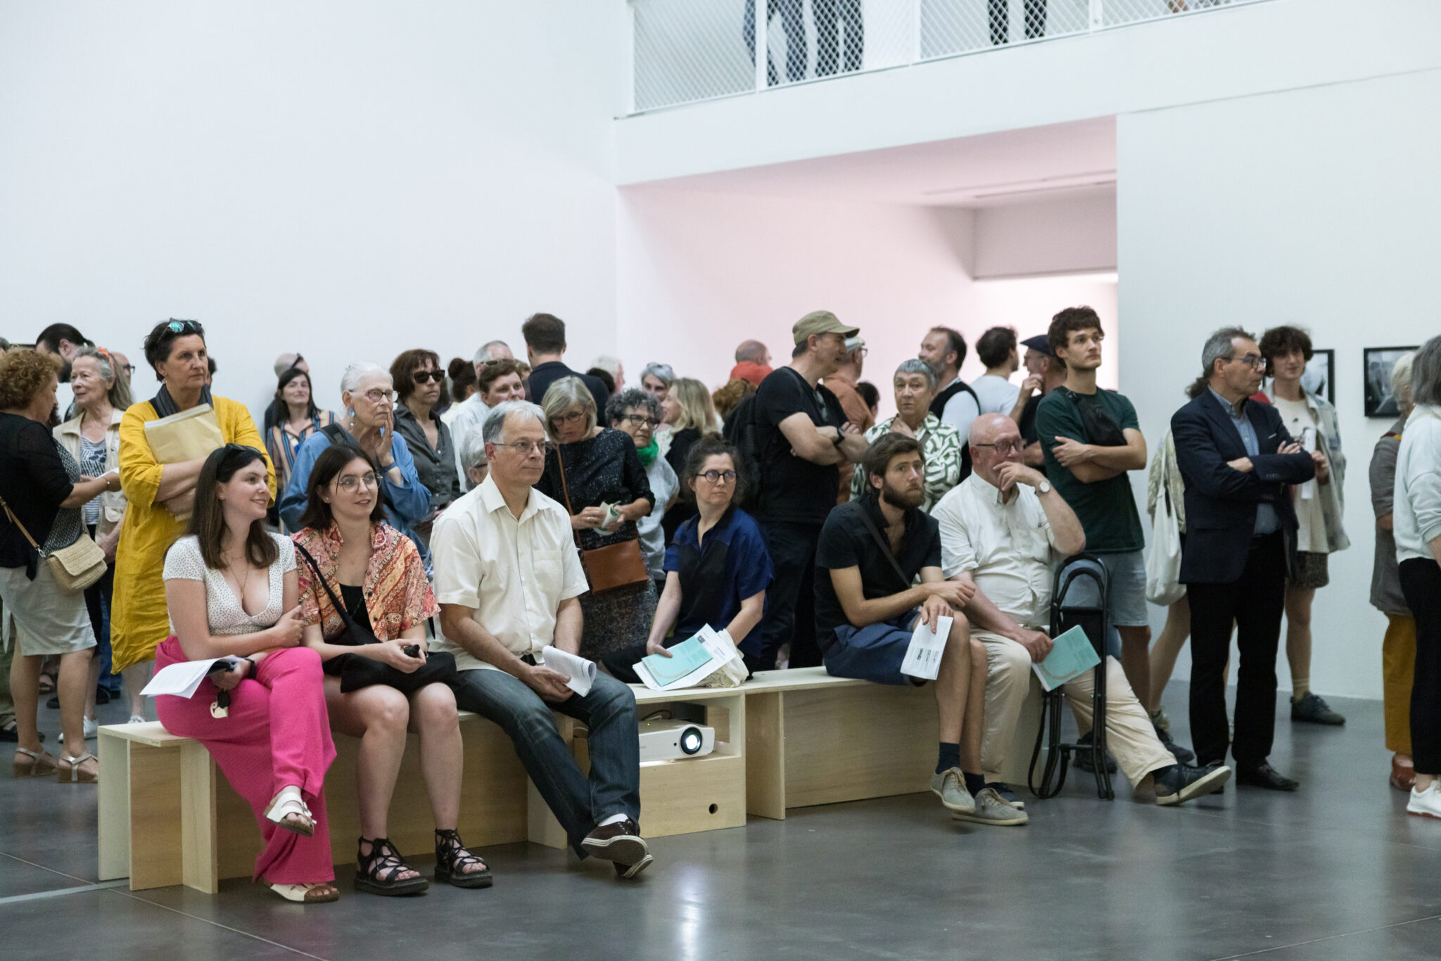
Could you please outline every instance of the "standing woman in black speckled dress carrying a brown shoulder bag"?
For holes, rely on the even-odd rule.
[[[545,458],[536,490],[565,504],[576,543],[586,552],[637,542],[635,523],[656,504],[634,439],[624,431],[597,424],[595,398],[579,377],[562,377],[545,392],[546,431],[555,450]],[[641,556],[644,560],[644,556]],[[644,565],[641,565],[644,566]],[[581,656],[599,654],[644,643],[646,625],[656,611],[656,586],[648,576],[597,592],[595,572],[586,571],[592,589],[581,595],[585,617]]]

